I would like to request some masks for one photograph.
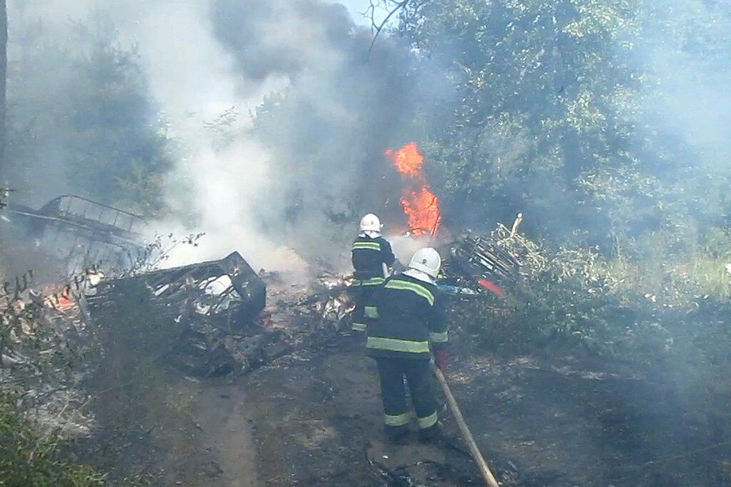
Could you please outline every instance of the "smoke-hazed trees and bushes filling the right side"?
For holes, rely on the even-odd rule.
[[[681,372],[704,384],[730,365],[731,170],[716,133],[727,127],[730,15],[695,0],[443,0],[402,12],[399,33],[442,60],[458,90],[439,107],[452,116],[423,127],[449,224],[485,229],[522,211],[542,241],[501,235],[526,275],[507,303],[458,303],[453,322],[471,343],[693,364]],[[701,110],[694,95],[721,114],[683,118]]]

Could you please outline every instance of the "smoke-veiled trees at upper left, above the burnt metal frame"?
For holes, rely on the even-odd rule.
[[[69,39],[29,18],[13,29],[7,170],[20,195],[81,193],[159,211],[173,146],[135,47],[118,45],[101,18],[72,25]]]

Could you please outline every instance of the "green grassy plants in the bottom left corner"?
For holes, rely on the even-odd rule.
[[[0,396],[0,486],[87,487],[105,485],[105,475],[65,461],[53,434],[41,435],[15,408],[15,398]]]

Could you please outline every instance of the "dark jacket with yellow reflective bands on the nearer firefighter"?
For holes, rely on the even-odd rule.
[[[398,274],[371,296],[366,348],[374,358],[431,358],[447,344],[446,298],[436,285]]]

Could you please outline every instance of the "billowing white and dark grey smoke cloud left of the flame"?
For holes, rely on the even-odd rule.
[[[202,26],[213,37],[201,37],[215,47],[204,52],[227,60],[212,77],[227,91],[213,98],[256,114],[218,127],[223,143],[220,131],[196,124],[185,140],[199,149],[179,167],[195,176],[173,207],[192,207],[209,235],[204,249],[241,249],[268,268],[300,265],[284,244],[332,265],[360,214],[382,209],[392,192],[382,154],[412,116],[409,52],[384,40],[369,59],[371,34],[332,2],[213,0],[207,8]],[[170,187],[174,195],[181,186]]]

